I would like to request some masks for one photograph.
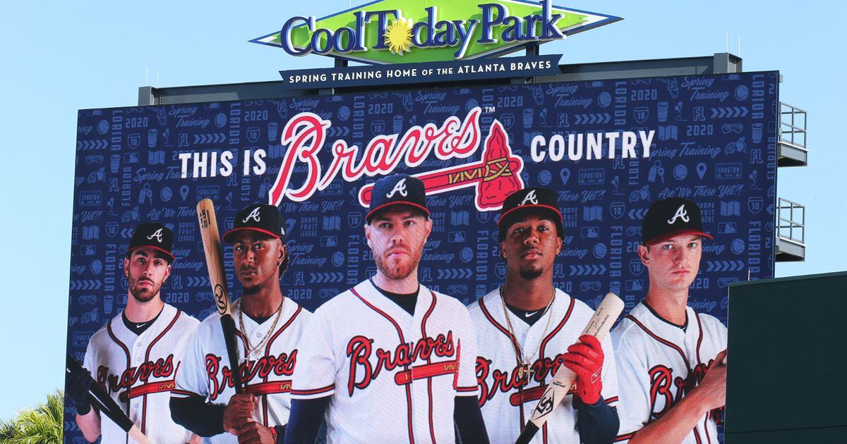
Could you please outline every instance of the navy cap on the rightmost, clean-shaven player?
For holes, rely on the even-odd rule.
[[[700,207],[681,197],[657,200],[641,221],[641,243],[658,244],[681,234],[696,234],[712,239],[703,231]]]

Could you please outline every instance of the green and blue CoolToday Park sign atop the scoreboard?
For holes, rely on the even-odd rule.
[[[280,73],[286,84],[296,87],[323,82],[335,82],[336,86],[368,85],[367,80],[385,84],[402,78],[435,81],[444,76],[451,80],[475,79],[502,71],[531,76],[557,74],[551,71],[557,68],[557,58],[516,63],[493,58],[528,45],[563,40],[617,20],[620,18],[554,6],[549,0],[377,0],[320,19],[291,17],[280,30],[252,42],[280,47],[294,56],[318,54],[371,65],[442,63],[405,69]],[[353,83],[345,83],[350,81]]]

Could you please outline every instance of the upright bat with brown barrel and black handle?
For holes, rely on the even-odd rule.
[[[214,304],[220,315],[220,326],[224,330],[226,354],[230,358],[232,382],[236,393],[244,392],[241,381],[241,360],[238,359],[238,348],[235,337],[235,321],[230,314],[230,292],[224,273],[224,251],[220,245],[218,219],[214,214],[214,203],[211,199],[197,202],[197,219],[200,222],[200,235],[203,241],[203,252],[206,253],[206,267],[209,270],[209,283],[212,284]]]

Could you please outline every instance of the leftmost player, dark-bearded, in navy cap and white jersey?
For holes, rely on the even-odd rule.
[[[165,304],[161,289],[168,280],[174,235],[158,223],[141,223],[124,259],[129,287],[125,310],[91,336],[83,374],[69,375],[67,396],[76,403],[76,424],[86,440],[135,442],[111,419],[103,419],[87,397],[88,372],[152,442],[185,443],[200,439],[170,418],[170,391],[185,343],[197,320]]]

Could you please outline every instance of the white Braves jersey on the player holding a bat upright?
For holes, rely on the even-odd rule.
[[[239,301],[240,302],[240,301]],[[275,331],[270,332],[274,324],[272,316],[268,321],[257,324],[250,316],[241,316],[243,331],[238,321],[241,304],[233,304],[232,315],[235,328],[239,330],[237,341],[239,362],[241,362],[241,381],[245,391],[258,398],[253,419],[265,427],[288,424],[291,411],[291,375],[297,363],[297,344],[303,333],[303,326],[311,315],[308,310],[291,299],[285,299],[280,313],[280,321]],[[274,315],[275,316],[275,315]],[[245,359],[246,347],[243,336],[249,338],[250,345],[256,347],[268,335],[264,347]],[[242,336],[243,335],[243,336]],[[226,405],[235,395],[235,385],[229,355],[224,343],[224,332],[220,326],[220,315],[213,313],[200,323],[188,345],[182,361],[180,374],[176,377],[173,397],[204,397],[207,403]],[[212,436],[212,443],[238,442],[238,437],[227,432]]]

